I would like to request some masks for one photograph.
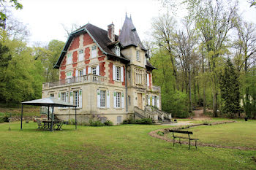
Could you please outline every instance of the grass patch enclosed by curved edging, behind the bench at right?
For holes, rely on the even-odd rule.
[[[204,125],[191,128],[200,142],[234,147],[256,148],[256,121],[238,121],[222,125]]]

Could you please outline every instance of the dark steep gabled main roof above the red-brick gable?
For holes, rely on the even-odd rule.
[[[111,43],[111,41],[110,39],[108,39],[108,31],[105,31],[102,28],[94,26],[91,23],[87,23],[85,26],[82,26],[78,30],[73,31],[69,35],[69,38],[67,39],[64,49],[61,51],[61,55],[59,56],[59,59],[54,66],[55,69],[59,69],[61,61],[64,58],[64,55],[67,53],[67,50],[69,48],[70,43],[72,42],[72,39],[75,36],[79,36],[80,34],[84,34],[86,32],[89,34],[89,36],[91,36],[91,39],[93,39],[94,42],[98,45],[99,49],[102,50],[102,53],[105,53],[105,55],[111,55],[113,57],[120,58],[124,61],[129,61],[129,59],[125,58],[124,56],[118,56],[115,53],[113,53],[112,50],[110,50],[108,45]],[[115,35],[115,40],[117,39],[118,36]]]

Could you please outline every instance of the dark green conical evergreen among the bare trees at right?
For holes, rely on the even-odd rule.
[[[225,72],[222,74],[219,84],[224,105],[222,110],[225,114],[234,117],[236,113],[241,112],[240,90],[238,73],[236,72],[233,63],[231,63],[230,58],[227,59]]]

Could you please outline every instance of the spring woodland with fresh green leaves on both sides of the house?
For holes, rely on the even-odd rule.
[[[10,1],[22,9],[17,1]],[[166,13],[153,18],[144,41],[157,67],[153,84],[162,88],[162,109],[189,117],[196,107],[214,117],[256,118],[256,27],[239,13],[238,1],[159,1]],[[249,4],[250,3],[250,4]],[[255,1],[248,5],[255,8]],[[176,19],[176,9],[187,15]],[[1,10],[0,103],[41,98],[42,82],[59,79],[53,69],[64,42],[29,45],[29,30]]]

